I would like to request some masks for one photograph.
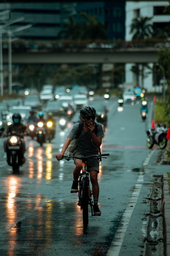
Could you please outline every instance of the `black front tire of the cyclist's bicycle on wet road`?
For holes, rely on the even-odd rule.
[[[82,179],[82,218],[83,227],[88,227],[88,183],[85,178]]]

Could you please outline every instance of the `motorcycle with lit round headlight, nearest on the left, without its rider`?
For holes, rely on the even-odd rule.
[[[23,138],[23,133],[12,131],[8,135],[6,157],[7,163],[12,166],[13,172],[19,172],[20,166],[25,163],[23,161],[21,138]]]

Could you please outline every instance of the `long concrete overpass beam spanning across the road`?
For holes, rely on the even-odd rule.
[[[12,64],[95,64],[156,63],[160,48],[120,49],[12,49]],[[8,64],[8,50],[3,50],[3,64]]]

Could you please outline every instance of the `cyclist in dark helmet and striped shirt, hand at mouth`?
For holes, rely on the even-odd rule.
[[[83,122],[83,128],[81,134],[77,138],[77,147],[73,152],[74,156],[81,157],[82,155],[88,156],[89,154],[98,154],[99,147],[102,144],[102,136],[104,135],[102,125],[100,123],[94,122],[96,117],[96,110],[93,107],[84,107],[80,110],[80,117]],[[96,127],[96,128],[95,128]],[[79,130],[79,122],[75,123],[72,130],[68,134],[67,140],[65,141],[62,150],[56,155],[57,160],[62,159],[68,145],[71,140],[74,139],[75,135]],[[78,178],[79,173],[82,168],[82,160],[74,160],[75,168],[73,171],[73,184],[71,187],[71,193],[78,192]],[[92,193],[94,197],[94,214],[100,215],[101,211],[98,207],[99,198],[99,183],[98,183],[98,173],[99,173],[99,160],[95,157],[87,158],[87,171],[90,173],[90,180],[92,183]]]

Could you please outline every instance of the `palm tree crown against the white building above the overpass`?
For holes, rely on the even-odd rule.
[[[136,17],[130,25],[132,39],[144,39],[152,35],[153,26],[150,24],[152,17]]]

